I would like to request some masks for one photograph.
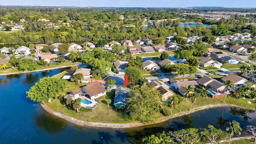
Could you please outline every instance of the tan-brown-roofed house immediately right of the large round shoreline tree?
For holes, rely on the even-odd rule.
[[[147,86],[159,90],[160,94],[162,95],[162,100],[168,100],[174,95],[174,93],[169,90],[169,86],[166,85],[164,82],[156,80],[150,82],[149,84],[147,84]]]

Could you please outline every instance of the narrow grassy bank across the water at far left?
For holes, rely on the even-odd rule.
[[[44,69],[48,69],[48,68],[57,68],[57,67],[61,67],[61,66],[71,66],[71,65],[78,65],[80,64],[80,62],[62,62],[62,64],[60,62],[54,62],[51,63],[50,66],[38,66],[38,68],[36,70],[44,70]],[[22,71],[18,70],[17,68],[8,68],[8,69],[4,69],[4,71],[0,71],[0,74],[7,74],[7,73],[13,73],[13,72],[20,72],[22,73]],[[28,71],[29,72],[29,71]]]

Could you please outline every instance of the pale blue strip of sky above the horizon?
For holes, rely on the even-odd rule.
[[[256,0],[0,0],[0,5],[86,7],[193,7],[255,8]]]

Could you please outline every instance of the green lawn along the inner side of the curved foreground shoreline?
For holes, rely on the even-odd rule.
[[[65,74],[60,74],[61,76],[56,77],[62,77]],[[74,82],[69,82],[68,87],[66,88],[65,92],[68,93],[72,90],[75,90],[77,88],[80,88],[84,85],[84,83],[76,85]],[[96,99],[100,104],[92,110],[92,112],[82,112],[82,114],[79,114],[75,112],[74,110],[70,109],[66,104],[64,103],[64,100],[59,99],[53,99],[52,102],[50,102],[48,105],[53,108],[54,110],[61,112],[62,114],[65,114],[67,116],[71,116],[73,118],[77,118],[80,120],[84,120],[87,122],[103,122],[103,123],[131,123],[136,122],[133,120],[129,120],[125,112],[116,111],[114,109],[114,92],[115,90],[108,90],[106,92],[105,96],[101,96],[100,98]],[[182,97],[177,91],[174,91],[175,94],[177,94],[179,97]],[[107,106],[108,99],[111,99],[110,106]],[[233,97],[227,97],[225,102],[222,102],[224,100],[223,98],[210,98],[210,97],[204,97],[204,98],[198,98],[196,103],[192,104],[193,108],[201,108],[202,106],[208,106],[208,105],[214,105],[214,104],[233,104],[236,106],[242,106],[247,108],[256,108],[256,101],[251,100],[251,104],[247,103],[249,101],[249,97],[246,96],[246,99],[243,99],[242,97],[236,99]],[[168,104],[168,102],[162,103],[163,108],[170,109],[171,106]],[[181,112],[192,112],[189,111],[191,106],[190,99],[188,98],[186,101],[182,104],[182,110]],[[176,108],[173,108],[172,115],[178,114],[180,111],[180,105]],[[160,112],[154,117],[154,120],[158,120],[159,118],[168,118],[164,117]]]

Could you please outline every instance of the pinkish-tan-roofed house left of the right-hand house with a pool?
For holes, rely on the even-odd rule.
[[[195,89],[199,88],[199,85],[195,80],[187,80],[187,81],[172,80],[170,82],[170,86],[172,90],[177,90],[178,92],[180,92],[182,96],[185,96],[185,93],[187,92],[185,87],[188,87],[188,85],[193,86]]]

